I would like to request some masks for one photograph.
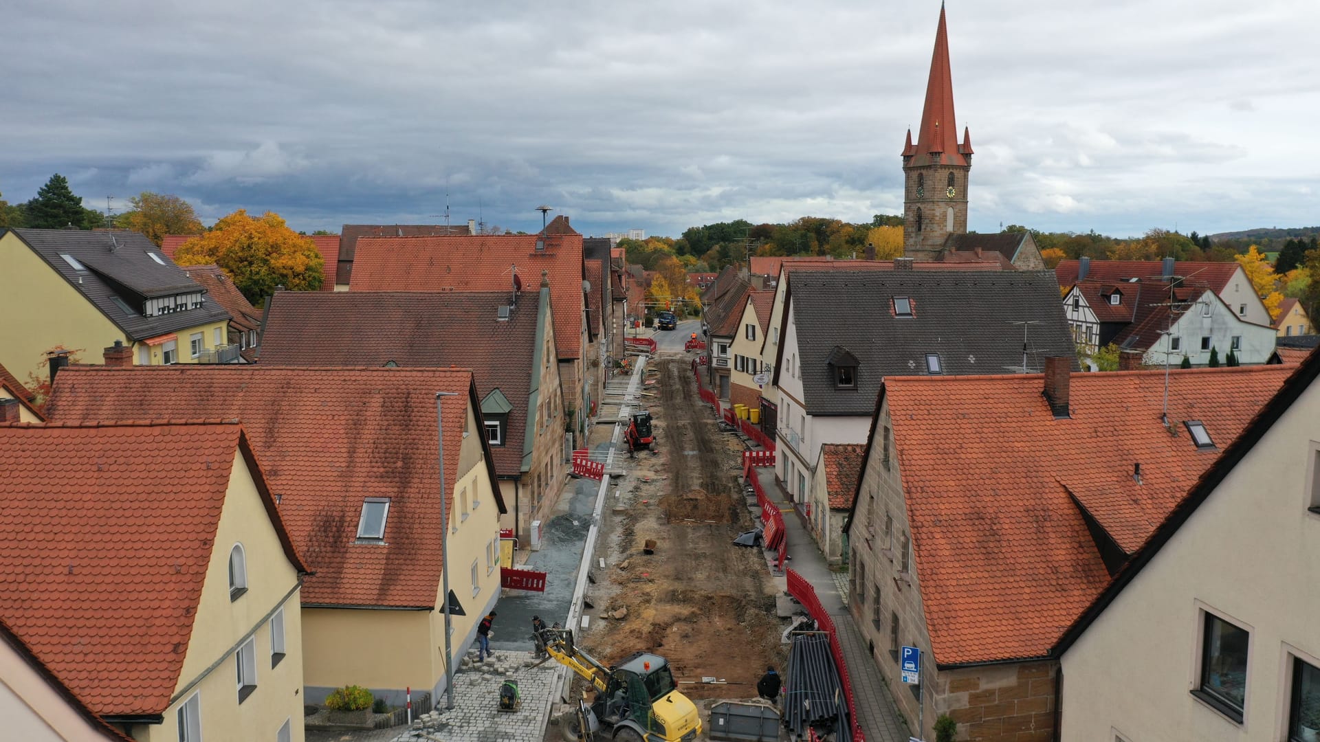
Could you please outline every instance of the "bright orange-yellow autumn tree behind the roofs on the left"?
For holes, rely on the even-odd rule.
[[[290,230],[279,214],[267,211],[261,217],[248,217],[244,209],[181,244],[174,261],[180,265],[214,263],[224,268],[252,304],[269,296],[275,287],[319,289],[325,263],[315,242]]]

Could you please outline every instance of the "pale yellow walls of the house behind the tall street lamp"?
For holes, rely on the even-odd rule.
[[[466,401],[466,400],[465,400]],[[457,404],[457,403],[454,403]],[[477,623],[499,598],[499,566],[487,572],[486,544],[499,544],[499,508],[483,459],[482,432],[467,409],[458,481],[450,511],[449,584],[467,615],[453,617],[455,664],[477,635]],[[467,508],[463,508],[463,492]],[[457,531],[454,529],[457,528]],[[496,553],[498,558],[498,553]],[[477,594],[471,564],[477,560]],[[436,585],[433,610],[304,609],[306,697],[318,702],[337,687],[356,684],[401,702],[404,691],[430,691],[445,681],[445,614]]]

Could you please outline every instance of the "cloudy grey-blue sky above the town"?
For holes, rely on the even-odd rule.
[[[902,211],[937,0],[17,0],[0,193],[294,228]],[[950,0],[969,227],[1320,223],[1316,0]],[[553,215],[553,214],[552,214]]]

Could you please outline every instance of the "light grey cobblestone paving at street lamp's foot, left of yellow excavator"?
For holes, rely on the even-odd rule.
[[[467,664],[454,673],[454,708],[445,710],[445,696],[436,710],[414,721],[393,742],[541,742],[552,689],[553,660],[529,667],[531,652],[495,650],[494,661]],[[466,658],[475,660],[477,654]],[[498,710],[499,688],[504,680],[517,681],[521,705],[513,713]]]

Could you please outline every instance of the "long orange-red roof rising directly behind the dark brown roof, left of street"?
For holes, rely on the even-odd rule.
[[[536,292],[549,271],[558,358],[582,356],[585,297],[582,235],[474,235],[362,238],[352,268],[352,290],[512,290],[517,267],[523,292]]]

